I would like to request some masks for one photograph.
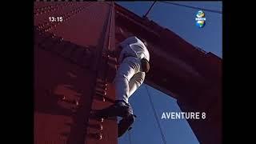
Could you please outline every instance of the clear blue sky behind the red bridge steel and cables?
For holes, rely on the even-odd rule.
[[[118,2],[126,9],[142,16],[150,8],[153,2]],[[222,11],[222,2],[176,2],[188,6],[198,6],[210,10]],[[195,14],[198,10],[173,6],[157,2],[148,18],[157,22],[158,25],[172,30],[175,34],[185,39],[194,46],[199,46],[207,52],[212,52],[222,58],[222,14],[206,12],[206,26],[198,28],[195,26]],[[130,130],[132,144],[163,144],[160,130],[154,118],[154,112],[150,106],[150,99],[146,91],[146,84],[143,84],[130,97],[130,104],[133,106],[134,114],[138,116]],[[168,144],[198,144],[193,131],[186,120],[164,120],[161,119],[164,111],[181,111],[176,99],[147,86],[150,96],[154,102],[160,125]],[[118,138],[119,144],[130,144],[129,134]]]

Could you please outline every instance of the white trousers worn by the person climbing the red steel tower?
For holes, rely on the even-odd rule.
[[[115,94],[117,100],[128,102],[131,94],[142,85],[145,72],[142,72],[140,59],[135,57],[125,58],[118,68],[114,78]]]

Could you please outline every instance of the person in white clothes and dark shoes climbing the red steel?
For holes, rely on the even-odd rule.
[[[115,51],[115,54],[119,54],[119,67],[114,78],[116,100],[113,105],[95,112],[98,118],[122,117],[118,122],[118,137],[131,129],[136,118],[128,100],[142,85],[150,70],[150,54],[146,46],[146,41],[136,36],[119,43]]]

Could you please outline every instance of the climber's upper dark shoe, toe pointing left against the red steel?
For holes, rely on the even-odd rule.
[[[130,105],[123,101],[116,101],[113,105],[105,109],[94,111],[94,117],[96,118],[126,117],[130,114],[132,114]]]

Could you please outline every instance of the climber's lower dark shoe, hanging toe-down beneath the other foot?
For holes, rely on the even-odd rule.
[[[130,114],[120,120],[118,123],[118,138],[125,134],[127,130],[131,129],[130,126],[134,123],[135,117],[134,114]]]

